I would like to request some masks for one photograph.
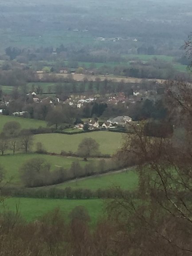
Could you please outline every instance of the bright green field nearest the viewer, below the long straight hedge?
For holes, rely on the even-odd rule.
[[[92,223],[95,223],[103,213],[103,201],[101,199],[93,200],[67,200],[67,199],[36,199],[36,198],[9,198],[5,200],[6,210],[16,211],[16,205],[19,206],[21,216],[27,221],[35,221],[43,214],[46,214],[55,208],[59,208],[67,216],[76,206],[84,206],[90,214]],[[0,206],[3,210],[3,205]]]

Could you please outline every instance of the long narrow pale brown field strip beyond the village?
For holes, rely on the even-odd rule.
[[[69,74],[37,74],[39,79],[42,79],[44,75],[47,77],[50,77],[51,81],[51,76],[57,76],[61,78],[68,78]],[[70,75],[71,76],[71,75]],[[114,77],[110,75],[83,75],[83,74],[73,74],[72,78],[75,81],[81,82],[83,79],[87,79],[88,81],[96,81],[96,79],[101,79],[101,81],[104,81],[105,79],[114,81],[114,82],[121,82],[121,80],[124,80],[124,83],[141,83],[142,81],[155,81],[157,83],[164,83],[165,80],[163,79],[141,79],[141,78],[134,78],[134,77]]]

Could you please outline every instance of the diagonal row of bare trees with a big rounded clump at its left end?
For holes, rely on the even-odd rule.
[[[97,176],[121,169],[121,167],[121,164],[113,159],[89,161],[84,166],[77,159],[71,163],[70,169],[64,169],[61,166],[52,170],[51,164],[44,158],[32,158],[20,167],[20,178],[25,187],[35,188]]]

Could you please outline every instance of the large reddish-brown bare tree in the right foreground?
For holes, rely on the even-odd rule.
[[[126,196],[119,190],[109,205],[109,215],[119,232],[126,233],[132,255],[192,254],[192,87],[184,82],[165,87],[172,136],[146,136],[140,124],[127,135],[118,155],[125,163],[131,156],[138,164],[137,191]]]

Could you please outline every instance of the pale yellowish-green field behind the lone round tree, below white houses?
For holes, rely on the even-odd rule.
[[[37,134],[35,142],[42,142],[44,148],[51,153],[60,154],[62,150],[76,152],[83,138],[93,138],[100,145],[102,154],[114,154],[122,145],[122,134],[100,131],[85,134]]]

